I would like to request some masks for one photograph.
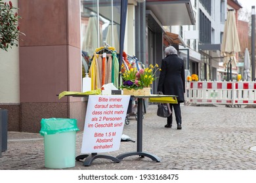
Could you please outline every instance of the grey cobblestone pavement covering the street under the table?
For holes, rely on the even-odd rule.
[[[150,105],[144,114],[142,150],[161,158],[160,162],[129,156],[114,163],[95,159],[91,166],[76,161],[72,170],[244,170],[256,169],[255,108],[216,106],[181,106],[182,130],[173,124],[163,127],[165,118],[156,116],[157,105]],[[83,129],[77,132],[76,156],[80,154]],[[137,141],[137,121],[130,117],[123,134]],[[121,142],[119,150],[105,153],[116,157],[137,150],[136,142]],[[0,169],[44,170],[43,137],[36,133],[9,131],[8,148],[0,158]]]

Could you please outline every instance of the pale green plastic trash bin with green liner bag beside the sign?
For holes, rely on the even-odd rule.
[[[44,136],[45,167],[62,169],[75,167],[75,136],[77,120],[49,118],[41,120]]]

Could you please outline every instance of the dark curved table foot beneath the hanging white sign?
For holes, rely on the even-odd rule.
[[[86,158],[86,159],[85,159]],[[81,159],[85,159],[85,161],[83,161],[83,165],[84,166],[90,166],[91,163],[93,163],[93,161],[97,158],[105,158],[105,159],[110,159],[112,161],[114,161],[115,163],[119,163],[120,160],[113,157],[113,156],[108,156],[108,155],[100,155],[100,154],[96,154],[96,153],[92,153],[92,154],[82,154],[79,155],[75,158],[76,161],[80,161]]]

